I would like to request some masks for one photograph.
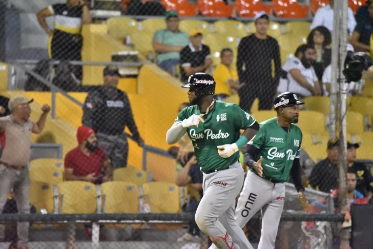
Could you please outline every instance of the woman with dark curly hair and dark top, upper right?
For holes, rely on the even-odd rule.
[[[313,65],[318,81],[321,82],[325,68],[331,63],[331,33],[324,26],[314,28],[307,37],[307,44],[316,51]]]

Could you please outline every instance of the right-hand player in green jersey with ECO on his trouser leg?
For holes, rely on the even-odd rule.
[[[250,170],[238,199],[235,218],[243,227],[261,209],[258,249],[275,248],[289,174],[292,174],[304,211],[309,211],[299,162],[302,132],[294,124],[298,122],[298,105],[303,104],[291,92],[278,95],[274,101],[277,117],[261,122],[259,132],[245,149],[244,161]]]

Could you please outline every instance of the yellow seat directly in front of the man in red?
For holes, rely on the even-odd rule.
[[[65,181],[57,184],[58,213],[92,214],[97,210],[96,186],[86,181]]]

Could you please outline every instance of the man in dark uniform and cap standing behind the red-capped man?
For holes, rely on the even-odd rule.
[[[117,89],[119,76],[115,67],[107,66],[103,70],[103,86],[88,93],[82,118],[82,124],[95,131],[113,169],[127,167],[129,148],[124,132],[126,126],[139,146],[143,144],[133,118],[130,100],[125,92]]]

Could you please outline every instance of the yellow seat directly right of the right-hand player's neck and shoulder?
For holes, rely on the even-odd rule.
[[[297,125],[302,132],[321,133],[326,129],[325,115],[315,111],[300,111]]]

